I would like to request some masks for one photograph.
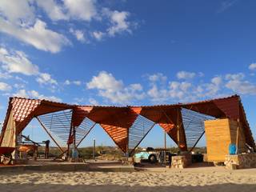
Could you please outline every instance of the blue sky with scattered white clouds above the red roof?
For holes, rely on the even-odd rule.
[[[123,106],[239,94],[255,137],[255,8],[252,0],[2,0],[0,120],[10,96]]]

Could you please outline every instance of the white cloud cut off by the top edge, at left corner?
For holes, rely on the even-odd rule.
[[[0,12],[11,22],[33,21],[36,5],[53,21],[81,19],[90,22],[97,18],[96,0],[1,0]]]

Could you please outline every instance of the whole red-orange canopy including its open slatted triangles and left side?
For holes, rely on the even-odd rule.
[[[180,150],[187,150],[186,132],[182,123],[182,108],[214,118],[230,118],[238,121],[246,135],[246,143],[256,150],[254,138],[238,95],[202,102],[162,106],[78,106],[41,99],[10,98],[5,122],[2,126],[0,146],[14,146],[11,137],[20,134],[32,118],[38,118],[42,126],[52,127],[57,134],[65,126],[61,138],[65,138],[67,145],[75,140],[80,144],[98,123],[123,152],[128,152],[133,150],[130,149],[130,146],[133,148],[138,146],[150,129],[158,124],[177,143]],[[67,112],[59,114],[61,111]],[[148,122],[140,123],[139,119],[146,119]],[[55,124],[51,125],[50,123]],[[141,126],[145,126],[143,131],[139,130]],[[12,136],[10,133],[14,135]],[[130,145],[130,142],[134,142],[134,145]]]

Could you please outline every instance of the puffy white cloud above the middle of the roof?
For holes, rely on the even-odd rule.
[[[145,97],[142,85],[135,83],[124,86],[121,80],[116,80],[112,74],[102,71],[86,83],[88,89],[98,90],[98,95],[108,101],[119,104],[128,104]]]

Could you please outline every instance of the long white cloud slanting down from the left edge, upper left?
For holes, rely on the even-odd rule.
[[[46,22],[42,22],[40,19],[36,20],[34,26],[20,27],[0,18],[0,26],[2,33],[18,38],[38,50],[57,53],[62,49],[62,46],[70,44],[70,41],[64,35],[48,30]]]

